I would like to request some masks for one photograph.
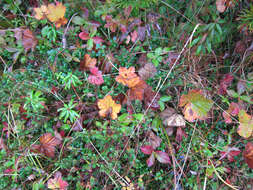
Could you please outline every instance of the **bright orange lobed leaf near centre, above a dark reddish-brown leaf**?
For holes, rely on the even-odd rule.
[[[133,88],[140,82],[140,77],[135,74],[134,67],[130,67],[129,69],[120,67],[119,76],[116,77],[116,81],[129,88]]]

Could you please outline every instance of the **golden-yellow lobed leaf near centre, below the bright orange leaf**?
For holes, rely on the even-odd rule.
[[[106,117],[110,114],[112,119],[116,119],[120,112],[121,105],[116,104],[111,95],[107,95],[104,99],[98,101],[98,108],[100,109],[99,115],[101,117]]]

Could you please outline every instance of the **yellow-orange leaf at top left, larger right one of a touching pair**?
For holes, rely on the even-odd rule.
[[[47,7],[48,13],[47,13],[47,18],[51,22],[55,23],[56,28],[61,27],[61,25],[64,25],[67,23],[67,19],[64,18],[64,14],[66,12],[66,7],[56,1],[56,5],[51,3]]]

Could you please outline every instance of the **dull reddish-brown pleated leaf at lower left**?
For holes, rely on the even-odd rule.
[[[52,136],[51,133],[45,133],[40,137],[40,145],[33,145],[33,149],[45,154],[48,157],[53,158],[55,152],[55,146],[61,143],[61,140]]]

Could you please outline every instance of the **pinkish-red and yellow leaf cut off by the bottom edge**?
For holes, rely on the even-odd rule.
[[[67,190],[68,183],[64,181],[61,177],[60,172],[56,172],[54,178],[51,178],[47,182],[47,187],[49,189],[54,189],[54,190]]]

